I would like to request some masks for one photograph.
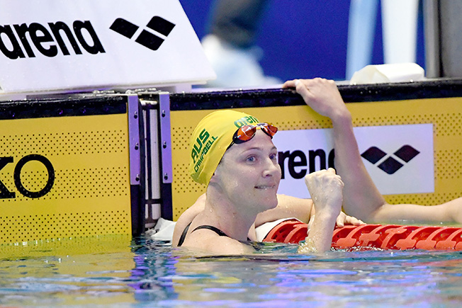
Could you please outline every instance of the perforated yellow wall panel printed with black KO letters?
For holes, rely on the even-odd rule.
[[[0,244],[131,234],[127,114],[0,121]]]

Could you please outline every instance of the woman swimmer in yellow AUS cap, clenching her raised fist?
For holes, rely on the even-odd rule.
[[[235,110],[215,111],[199,122],[191,137],[189,172],[207,189],[203,208],[178,246],[223,255],[255,251],[257,215],[278,206],[281,168],[271,140],[276,132],[273,125]],[[342,207],[342,179],[329,169],[305,181],[316,200],[307,242],[310,251],[326,251]]]

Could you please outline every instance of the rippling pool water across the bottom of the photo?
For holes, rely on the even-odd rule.
[[[115,244],[116,243],[116,244]],[[1,251],[0,307],[461,307],[458,251],[191,257],[127,237]],[[76,246],[76,245],[74,245]],[[69,248],[71,247],[71,248]],[[67,253],[63,253],[63,251]],[[13,253],[11,253],[13,251]]]

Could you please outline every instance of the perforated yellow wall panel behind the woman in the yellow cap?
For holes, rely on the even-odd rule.
[[[388,203],[435,205],[462,195],[462,98],[431,98],[410,101],[348,103],[353,125],[402,125],[433,123],[435,193],[386,195]],[[332,122],[306,106],[243,108],[259,120],[272,122],[280,130],[332,127]],[[188,176],[188,142],[197,123],[213,110],[171,112],[172,183],[174,219],[191,206],[205,186]],[[294,141],[296,142],[296,141]]]

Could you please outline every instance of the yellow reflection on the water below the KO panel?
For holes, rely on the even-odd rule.
[[[130,244],[130,236],[98,236],[1,246],[0,305],[133,303]]]

